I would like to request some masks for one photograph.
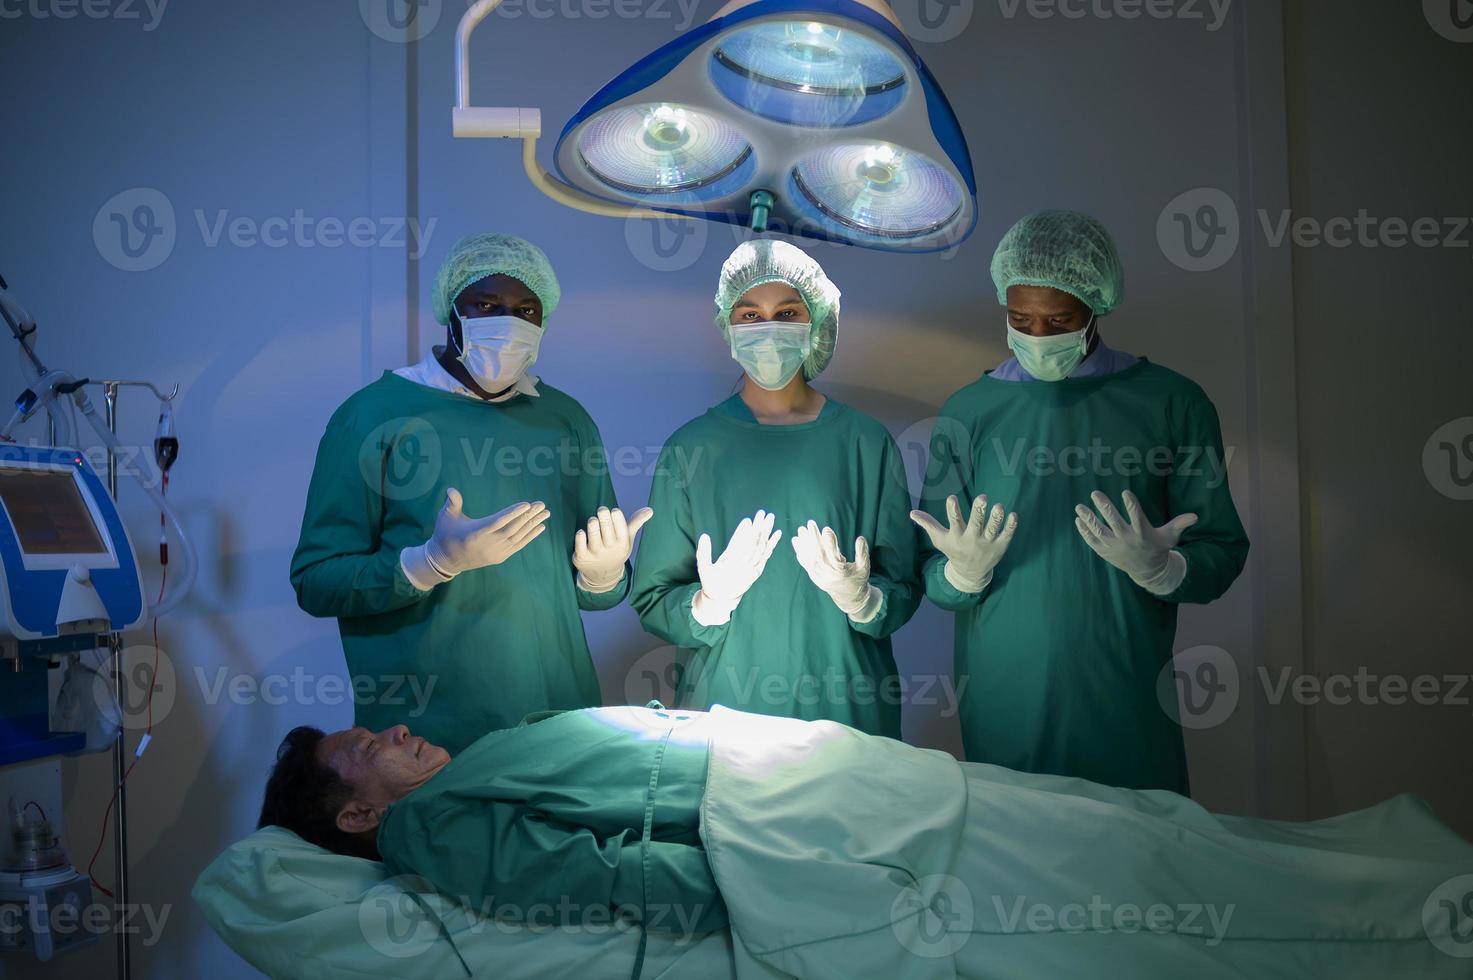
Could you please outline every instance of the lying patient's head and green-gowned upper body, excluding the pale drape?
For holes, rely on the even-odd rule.
[[[258,825],[380,859],[471,908],[526,921],[551,911],[558,924],[617,914],[654,931],[725,928],[697,833],[706,746],[601,716],[530,715],[454,759],[407,725],[295,728]]]

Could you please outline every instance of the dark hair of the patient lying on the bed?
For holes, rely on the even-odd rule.
[[[354,797],[354,787],[318,760],[317,747],[326,737],[321,728],[299,725],[281,740],[256,827],[284,827],[318,847],[377,861],[371,834],[349,834],[337,827],[337,812]]]

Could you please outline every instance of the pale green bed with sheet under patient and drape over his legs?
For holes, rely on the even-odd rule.
[[[701,725],[701,839],[731,931],[488,918],[280,828],[228,847],[194,899],[286,980],[626,980],[641,942],[641,980],[1473,976],[1473,846],[1410,796],[1259,821],[832,722],[716,707]]]

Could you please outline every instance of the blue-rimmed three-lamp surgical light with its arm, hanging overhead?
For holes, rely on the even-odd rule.
[[[458,137],[523,140],[533,186],[614,217],[706,218],[927,252],[977,224],[956,116],[882,0],[732,0],[600,88],[563,128],[554,177],[538,109],[470,105],[457,32]]]

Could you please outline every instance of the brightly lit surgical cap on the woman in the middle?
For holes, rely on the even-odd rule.
[[[748,289],[763,283],[787,283],[803,298],[812,323],[809,336],[813,339],[809,355],[803,358],[803,377],[809,380],[818,377],[834,357],[834,337],[838,333],[838,286],[829,281],[823,268],[795,245],[772,239],[742,242],[722,264],[722,277],[716,284],[716,327],[728,342],[732,307]]]

